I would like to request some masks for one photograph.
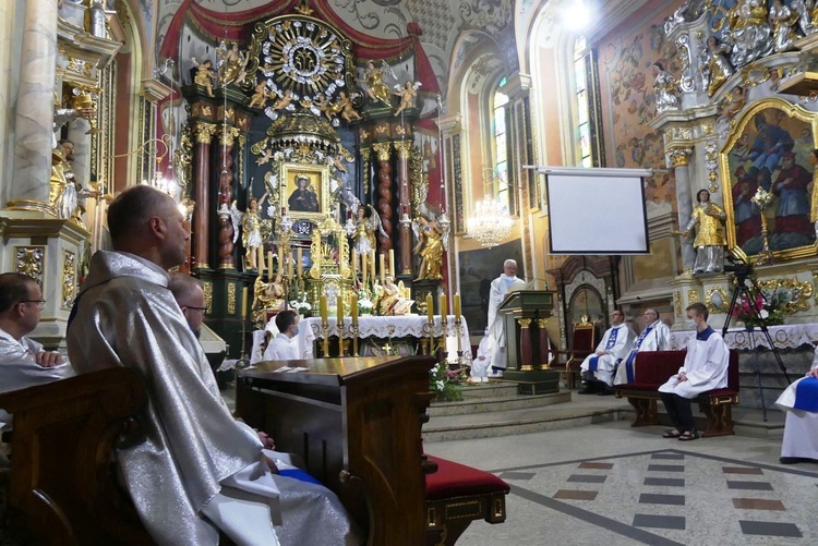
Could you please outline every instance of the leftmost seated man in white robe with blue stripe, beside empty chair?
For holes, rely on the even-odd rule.
[[[579,366],[582,375],[580,395],[613,395],[611,386],[616,366],[630,352],[636,333],[625,324],[625,314],[622,311],[611,313],[611,325],[597,345],[597,351],[586,356]]]

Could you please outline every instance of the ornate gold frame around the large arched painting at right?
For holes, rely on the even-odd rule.
[[[742,118],[736,123],[735,129],[733,130],[732,134],[724,143],[724,146],[722,146],[721,150],[719,151],[719,167],[721,169],[721,185],[722,185],[722,192],[723,192],[722,195],[724,197],[724,211],[727,215],[727,220],[726,220],[727,248],[733,255],[739,256],[744,259],[749,259],[750,262],[756,260],[761,254],[747,256],[744,250],[742,250],[742,247],[738,246],[736,242],[735,216],[734,216],[734,208],[733,208],[733,191],[732,191],[733,190],[733,185],[732,185],[733,173],[731,171],[729,156],[730,156],[730,153],[735,147],[738,139],[744,134],[747,125],[753,122],[753,119],[755,118],[755,116],[768,109],[781,110],[787,117],[798,119],[809,124],[813,130],[813,147],[814,148],[818,147],[818,142],[816,142],[816,135],[818,135],[818,112],[810,112],[797,105],[793,105],[792,102],[787,100],[784,100],[778,97],[770,97],[770,98],[759,100],[758,102],[750,106],[744,112]],[[787,259],[796,259],[796,258],[815,256],[817,251],[818,251],[818,242],[814,244],[805,245],[805,246],[796,246],[794,248],[774,251],[772,255],[777,259],[787,260]]]

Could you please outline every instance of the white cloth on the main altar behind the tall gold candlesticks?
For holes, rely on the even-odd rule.
[[[460,348],[465,364],[471,363],[471,343],[469,341],[469,326],[466,324],[466,317],[460,323]],[[329,336],[338,335],[337,318],[328,317]],[[423,338],[429,336],[424,332],[428,317],[425,315],[401,315],[394,317],[384,316],[360,316],[358,318],[358,337],[363,340],[366,338]],[[344,338],[352,338],[349,332],[349,326],[352,324],[351,317],[344,317]],[[299,332],[296,336],[298,353],[302,359],[314,359],[313,344],[316,340],[324,339],[321,331],[321,317],[304,318],[298,325]],[[435,315],[432,326],[434,337],[441,337],[443,327],[440,315]],[[449,360],[457,357],[457,331],[455,328],[455,316],[449,315],[446,323],[446,350]]]

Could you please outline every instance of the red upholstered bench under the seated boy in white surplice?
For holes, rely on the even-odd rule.
[[[614,386],[617,398],[627,398],[636,410],[630,426],[659,424],[657,401],[659,389],[685,362],[687,351],[645,351],[637,356],[634,383]],[[727,387],[702,392],[696,397],[699,410],[707,416],[702,436],[726,436],[733,433],[733,404],[738,403],[738,353],[730,351]]]

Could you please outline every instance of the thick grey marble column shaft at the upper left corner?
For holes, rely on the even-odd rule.
[[[8,193],[21,208],[44,209],[48,204],[57,74],[57,0],[24,2],[13,187]]]

